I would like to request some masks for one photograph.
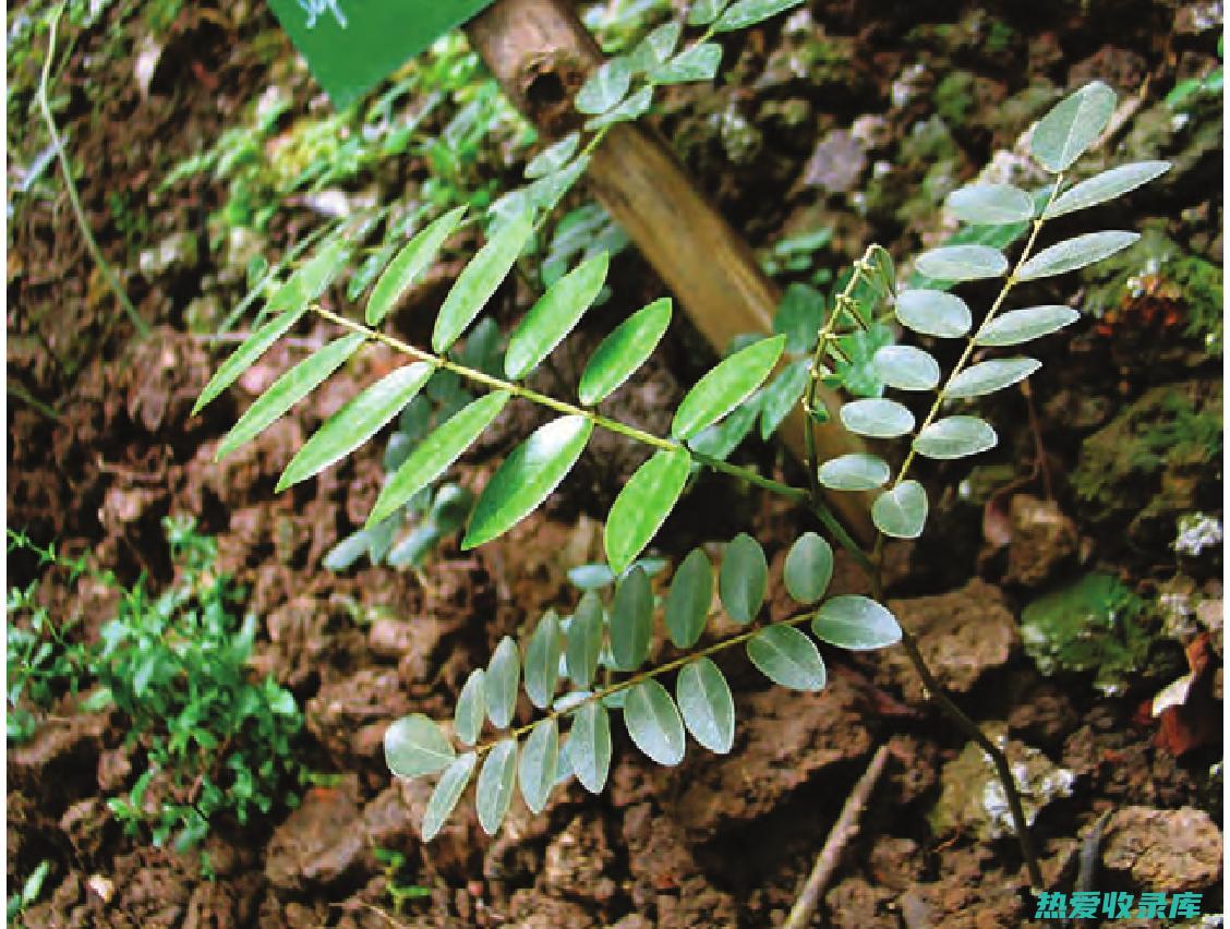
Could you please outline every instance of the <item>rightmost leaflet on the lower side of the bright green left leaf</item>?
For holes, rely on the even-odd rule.
[[[603,543],[615,573],[641,554],[679,501],[691,457],[683,449],[661,450],[636,469],[606,517]]]

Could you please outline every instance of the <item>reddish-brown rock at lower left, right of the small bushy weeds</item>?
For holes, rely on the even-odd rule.
[[[274,887],[301,892],[347,877],[363,855],[363,821],[354,801],[336,787],[312,787],[269,840],[264,876]]]

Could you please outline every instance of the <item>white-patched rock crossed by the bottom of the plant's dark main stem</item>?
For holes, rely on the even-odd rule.
[[[1002,725],[985,726],[984,732],[1007,754],[1012,776],[1021,786],[1021,806],[1028,824],[1053,800],[1071,796],[1075,772],[1057,767],[1037,748],[1022,742],[1010,740],[1005,748]],[[940,783],[940,800],[927,816],[936,834],[963,828],[975,831],[984,840],[1016,834],[1007,795],[991,759],[978,744],[968,742],[961,754],[943,767]]]

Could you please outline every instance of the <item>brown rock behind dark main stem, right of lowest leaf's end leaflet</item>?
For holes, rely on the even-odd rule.
[[[1020,645],[1016,621],[998,587],[974,578],[961,589],[934,597],[889,600],[898,621],[914,634],[927,666],[948,690],[969,693],[986,672],[1007,663]],[[877,652],[883,683],[897,684],[908,700],[922,701],[922,683],[904,650]]]

